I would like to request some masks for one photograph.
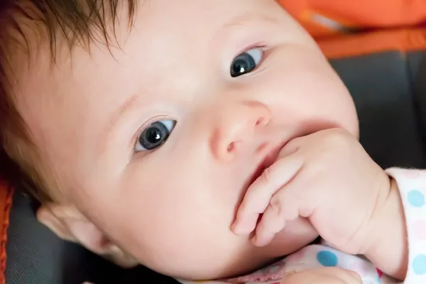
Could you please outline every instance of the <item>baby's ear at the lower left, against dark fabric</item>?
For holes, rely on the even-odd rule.
[[[61,239],[72,241],[124,268],[138,265],[137,261],[118,246],[75,207],[45,204],[37,211],[39,222],[48,226]]]

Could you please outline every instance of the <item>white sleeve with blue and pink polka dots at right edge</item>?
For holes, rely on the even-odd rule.
[[[391,168],[404,204],[409,266],[405,284],[426,284],[426,171]]]

